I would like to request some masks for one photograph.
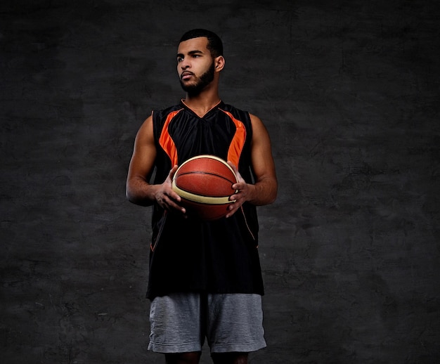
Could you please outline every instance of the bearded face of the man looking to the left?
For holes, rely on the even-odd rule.
[[[208,39],[182,41],[177,51],[177,72],[182,89],[197,95],[214,79],[214,60],[207,48]]]

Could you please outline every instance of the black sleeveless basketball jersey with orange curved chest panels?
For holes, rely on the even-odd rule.
[[[153,111],[157,156],[154,183],[190,157],[231,160],[247,183],[251,167],[250,115],[220,102],[199,117],[183,101]],[[230,218],[184,219],[153,205],[147,297],[172,292],[264,294],[258,254],[257,210],[245,202]]]

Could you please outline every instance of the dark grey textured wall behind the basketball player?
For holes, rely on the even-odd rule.
[[[1,1],[1,363],[162,362],[150,209],[124,183],[138,127],[183,96],[193,27],[224,39],[221,96],[273,141],[251,363],[439,359],[438,4]]]

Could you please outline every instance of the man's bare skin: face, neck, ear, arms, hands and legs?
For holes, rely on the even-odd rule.
[[[214,63],[214,79],[207,84],[200,93],[186,93],[184,102],[200,117],[221,100],[219,97],[219,74],[224,68],[223,56],[213,58],[207,48],[207,38],[199,37],[188,39],[179,44],[177,56],[177,72],[183,84],[200,82],[200,75],[209,70]],[[255,205],[270,204],[276,199],[278,182],[271,152],[271,141],[266,127],[261,119],[250,115],[252,122],[252,169],[254,183],[246,183],[237,167],[228,162],[238,176],[238,183],[232,188],[238,190],[231,195],[235,200],[229,206],[226,218],[235,214],[243,203]],[[153,136],[153,117],[148,117],[136,135],[134,152],[129,165],[127,176],[127,198],[134,204],[148,206],[157,202],[163,209],[179,212],[183,215],[186,210],[181,207],[181,197],[172,190],[172,178],[177,166],[174,166],[163,183],[151,184],[150,176],[154,168],[156,157],[155,139]],[[201,352],[166,354],[167,364],[198,364]],[[247,364],[247,353],[212,353],[214,364]]]

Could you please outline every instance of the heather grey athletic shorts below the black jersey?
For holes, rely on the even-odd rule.
[[[148,350],[158,353],[250,352],[266,346],[259,294],[177,293],[150,306]]]

